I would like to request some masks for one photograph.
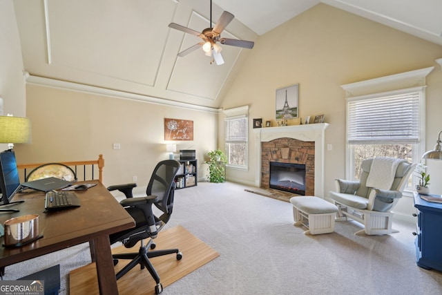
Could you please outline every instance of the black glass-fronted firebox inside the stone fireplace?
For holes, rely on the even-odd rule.
[[[305,196],[305,164],[270,162],[271,189]]]

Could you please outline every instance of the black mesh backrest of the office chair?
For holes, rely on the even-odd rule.
[[[148,183],[147,196],[157,196],[155,206],[164,214],[160,216],[163,222],[167,222],[173,209],[173,196],[175,189],[175,175],[180,167],[180,162],[164,160],[155,166],[151,180]]]

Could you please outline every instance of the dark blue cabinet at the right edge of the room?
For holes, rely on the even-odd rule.
[[[434,195],[433,195],[434,196]],[[419,267],[442,272],[442,204],[427,202],[414,193],[417,209],[416,262]]]

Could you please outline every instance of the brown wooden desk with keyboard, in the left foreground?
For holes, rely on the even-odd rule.
[[[26,214],[39,214],[43,238],[19,248],[0,247],[0,267],[89,242],[92,260],[97,264],[100,294],[118,294],[109,234],[135,227],[133,218],[98,180],[87,191],[75,191],[81,207],[44,212],[44,193],[19,193],[14,200],[25,200],[12,208],[18,213],[0,213],[0,222]],[[0,238],[3,244],[3,237]],[[23,274],[24,275],[24,274]]]

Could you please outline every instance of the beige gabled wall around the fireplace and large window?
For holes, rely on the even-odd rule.
[[[253,184],[259,167],[253,162],[251,120],[274,119],[276,89],[292,84],[299,84],[300,117],[324,114],[330,124],[325,131],[325,143],[333,145],[325,151],[326,192],[334,188],[335,178],[345,177],[342,84],[434,66],[427,76],[427,148],[432,149],[442,130],[442,72],[434,61],[440,57],[441,46],[325,4],[268,32],[256,42],[222,104],[250,106],[249,171],[229,170],[228,179]],[[220,133],[220,142],[223,137]]]

